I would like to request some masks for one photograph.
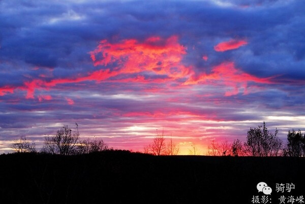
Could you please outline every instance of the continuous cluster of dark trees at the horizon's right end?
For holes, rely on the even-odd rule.
[[[297,132],[288,130],[287,142],[278,137],[278,129],[272,133],[266,127],[266,123],[258,127],[251,127],[247,132],[246,142],[242,143],[239,139],[228,143],[227,140],[221,144],[214,140],[208,146],[208,155],[212,156],[305,156],[305,137],[301,130]]]

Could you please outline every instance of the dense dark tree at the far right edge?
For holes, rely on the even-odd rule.
[[[294,157],[305,156],[305,138],[301,130],[298,130],[297,132],[294,129],[292,129],[292,131],[288,130],[284,154]]]

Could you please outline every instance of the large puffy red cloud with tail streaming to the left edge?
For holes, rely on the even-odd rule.
[[[157,75],[167,75],[171,79],[187,77],[192,74],[191,67],[186,67],[181,63],[182,56],[186,54],[186,48],[178,43],[177,37],[168,39],[151,37],[140,43],[137,40],[124,40],[120,43],[111,44],[103,40],[97,49],[90,52],[90,57],[94,65],[102,65],[104,69],[87,74],[87,76],[76,78],[53,79],[46,81],[34,79],[24,82],[19,87],[2,87],[0,95],[13,92],[19,88],[25,90],[26,98],[34,98],[36,89],[49,89],[57,84],[78,83],[82,81],[104,81],[121,74],[136,74],[141,72],[151,72]],[[112,71],[108,65],[115,64]],[[134,82],[144,78],[136,79]],[[130,80],[133,81],[133,80]]]

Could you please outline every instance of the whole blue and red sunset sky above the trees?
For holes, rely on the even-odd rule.
[[[266,122],[305,130],[305,8],[293,0],[0,1],[0,153],[79,125],[188,154]]]

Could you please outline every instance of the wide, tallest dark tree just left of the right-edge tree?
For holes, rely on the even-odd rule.
[[[278,156],[282,141],[277,137],[278,130],[272,134],[268,131],[265,122],[263,126],[250,128],[245,148],[250,156]]]

